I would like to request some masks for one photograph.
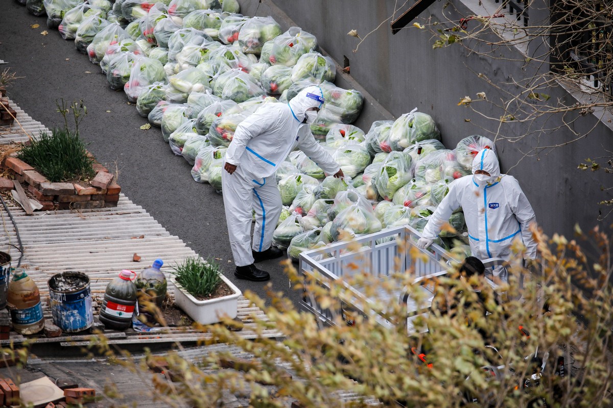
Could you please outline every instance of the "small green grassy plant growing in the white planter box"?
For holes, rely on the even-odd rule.
[[[186,258],[175,266],[175,279],[194,297],[209,297],[221,283],[221,267],[213,259]]]

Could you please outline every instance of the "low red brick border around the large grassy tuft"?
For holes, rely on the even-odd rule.
[[[9,170],[32,198],[42,205],[42,210],[92,209],[115,207],[121,187],[104,166],[94,164],[96,177],[88,185],[83,183],[52,183],[32,166],[17,157],[7,157],[2,168]]]

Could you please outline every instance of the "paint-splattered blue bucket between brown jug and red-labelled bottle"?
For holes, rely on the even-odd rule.
[[[53,323],[63,332],[80,332],[91,327],[94,313],[91,306],[89,277],[85,273],[56,273],[48,281]]]

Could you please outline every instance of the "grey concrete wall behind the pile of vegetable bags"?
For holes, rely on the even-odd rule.
[[[283,29],[297,25],[316,35],[323,50],[338,63],[343,64],[344,57],[348,57],[351,75],[341,73],[337,76],[337,84],[365,91],[365,108],[355,123],[365,131],[375,120],[398,117],[417,107],[419,111],[432,115],[441,130],[443,144],[448,148],[453,149],[460,139],[469,135],[481,134],[495,139],[502,171],[519,180],[535,209],[539,225],[547,234],[558,232],[572,237],[574,224],[578,223],[583,229],[593,228],[599,224],[598,218],[606,214],[607,207],[598,202],[612,198],[611,191],[601,191],[603,187],[613,187],[611,176],[603,171],[579,171],[577,165],[585,158],[606,155],[604,150],[613,151],[610,124],[599,122],[593,114],[577,117],[572,127],[577,132],[591,129],[587,138],[526,155],[535,147],[563,144],[574,137],[566,128],[558,128],[563,124],[559,117],[548,117],[547,121],[531,125],[511,122],[498,128],[496,122],[487,121],[470,108],[457,105],[465,95],[474,98],[481,91],[489,100],[501,98],[495,89],[477,78],[476,73],[484,73],[496,83],[506,83],[510,78],[525,78],[527,72],[522,69],[522,64],[509,62],[509,59],[524,59],[515,48],[490,50],[498,56],[503,55],[504,60],[469,54],[459,45],[433,50],[433,40],[428,32],[409,26],[392,35],[387,22],[370,34],[354,52],[359,40],[347,33],[357,29],[364,37],[392,15],[394,1],[240,2],[245,15],[272,15]],[[460,0],[453,0],[453,3],[459,10],[458,15],[473,13]],[[435,2],[420,17],[445,20],[441,15],[443,4]],[[449,10],[445,13],[449,14]],[[509,91],[517,92],[519,89],[509,87]],[[562,88],[552,89],[550,94],[552,98],[573,102],[573,97]],[[492,117],[501,114],[493,108],[485,112]],[[546,129],[555,130],[543,131]],[[501,137],[529,132],[534,133],[515,143]],[[610,231],[612,223],[613,215],[600,222],[600,226]]]

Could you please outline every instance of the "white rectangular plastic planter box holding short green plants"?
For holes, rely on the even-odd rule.
[[[238,297],[242,293],[226,276],[219,276],[234,291],[234,294],[208,300],[197,300],[175,280],[174,276],[170,276],[170,282],[175,285],[176,289],[175,304],[200,324],[218,323],[221,321],[221,316],[234,319],[238,314]]]

